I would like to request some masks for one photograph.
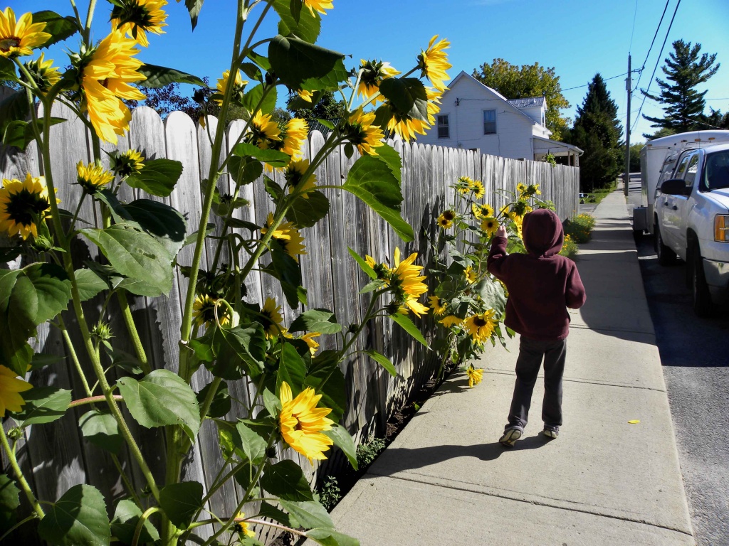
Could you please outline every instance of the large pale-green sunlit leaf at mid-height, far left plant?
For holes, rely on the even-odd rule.
[[[98,245],[116,272],[130,277],[123,287],[126,290],[155,297],[172,289],[173,256],[136,222],[116,223],[106,229],[87,228],[81,233]]]

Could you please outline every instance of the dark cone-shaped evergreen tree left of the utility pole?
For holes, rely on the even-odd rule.
[[[609,186],[623,168],[617,104],[600,74],[588,84],[588,94],[577,107],[577,118],[569,138],[585,151],[580,157],[580,190],[594,191]]]

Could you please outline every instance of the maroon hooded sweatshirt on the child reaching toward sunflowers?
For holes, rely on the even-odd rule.
[[[507,238],[494,237],[488,255],[488,271],[509,290],[504,324],[531,339],[565,339],[566,308],[585,303],[585,287],[574,261],[558,255],[562,223],[553,211],[537,209],[524,216],[521,232],[528,254],[507,255]]]

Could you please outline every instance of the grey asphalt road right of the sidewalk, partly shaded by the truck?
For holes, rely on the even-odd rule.
[[[639,204],[639,186],[631,184],[628,202]],[[660,266],[649,235],[636,237],[636,248],[696,542],[729,546],[729,306],[696,317],[685,264]]]

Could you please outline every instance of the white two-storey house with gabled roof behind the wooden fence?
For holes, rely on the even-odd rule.
[[[550,139],[546,111],[544,97],[508,100],[461,71],[443,93],[435,126],[418,142],[537,161],[551,153],[566,158],[561,161],[566,165],[579,165],[582,150]]]

